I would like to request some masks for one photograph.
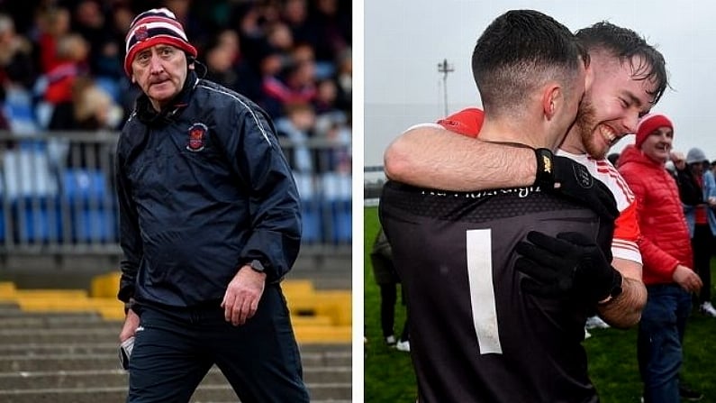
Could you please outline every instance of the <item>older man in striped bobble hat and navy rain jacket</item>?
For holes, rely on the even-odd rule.
[[[139,14],[126,47],[142,91],[117,144],[127,402],[189,401],[214,364],[241,401],[309,401],[279,286],[299,199],[273,124],[197,78],[168,9]]]

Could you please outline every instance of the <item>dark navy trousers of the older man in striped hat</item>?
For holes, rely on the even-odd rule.
[[[219,303],[140,307],[128,403],[186,403],[213,364],[242,403],[309,401],[280,287],[267,285],[244,325],[226,322]]]

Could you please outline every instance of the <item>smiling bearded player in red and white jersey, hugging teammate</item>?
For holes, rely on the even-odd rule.
[[[610,325],[628,327],[639,322],[647,298],[641,281],[639,225],[634,196],[605,156],[615,142],[636,132],[639,116],[662,96],[666,65],[636,32],[612,23],[595,23],[576,32],[576,37],[589,52],[592,79],[557,154],[589,169],[616,199],[620,215],[612,264],[624,276],[623,292],[598,311]],[[535,183],[535,152],[483,141],[482,124],[482,111],[469,108],[439,124],[413,127],[385,152],[386,174],[416,186],[458,191]]]

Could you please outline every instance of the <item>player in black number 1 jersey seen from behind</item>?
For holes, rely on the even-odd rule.
[[[587,62],[548,15],[498,16],[473,50],[482,138],[548,157],[575,120]],[[586,188],[603,186],[579,173]],[[581,342],[589,307],[621,285],[604,257],[614,215],[536,187],[458,193],[394,181],[379,215],[408,298],[418,401],[598,402]],[[565,251],[555,270],[541,270],[540,245],[553,238],[538,227]]]

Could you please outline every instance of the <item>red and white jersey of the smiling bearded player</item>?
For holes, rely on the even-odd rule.
[[[482,128],[484,117],[485,114],[481,109],[467,108],[441,119],[437,125],[453,133],[477,138]],[[435,124],[430,125],[434,126]],[[587,154],[577,155],[559,150],[557,155],[563,155],[581,163],[589,169],[589,173],[595,179],[601,180],[607,188],[612,190],[620,212],[614,223],[612,255],[615,258],[635,261],[641,264],[641,253],[639,253],[639,246],[637,245],[641,233],[639,232],[636,199],[619,171],[614,168],[609,160],[594,160]]]

